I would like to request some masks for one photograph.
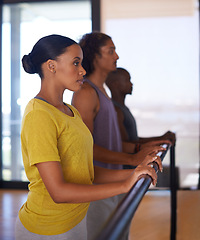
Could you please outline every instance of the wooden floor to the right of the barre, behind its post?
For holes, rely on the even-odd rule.
[[[132,220],[130,240],[170,239],[170,192],[150,191]],[[200,240],[200,191],[177,193],[177,240]]]

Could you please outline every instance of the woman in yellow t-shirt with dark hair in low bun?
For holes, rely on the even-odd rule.
[[[83,83],[82,59],[80,46],[60,35],[41,38],[22,59],[27,73],[41,77],[41,89],[22,120],[22,156],[30,184],[16,221],[16,240],[86,240],[89,202],[126,193],[141,174],[149,174],[155,184],[157,175],[148,166],[153,161],[162,170],[155,154],[134,171],[93,167],[92,135],[79,112],[63,102],[65,89],[77,91]]]

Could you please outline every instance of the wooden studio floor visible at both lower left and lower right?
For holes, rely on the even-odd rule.
[[[27,191],[0,190],[0,240],[14,240]],[[177,240],[200,240],[200,191],[178,191]],[[129,240],[170,239],[170,192],[149,191],[132,220]],[[81,239],[80,239],[81,240]]]

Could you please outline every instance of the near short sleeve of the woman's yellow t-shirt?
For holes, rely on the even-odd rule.
[[[26,115],[21,140],[28,154],[29,165],[60,161],[57,139],[56,122],[47,111],[33,110]]]

